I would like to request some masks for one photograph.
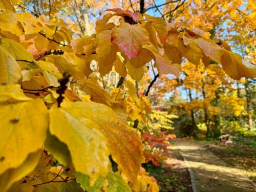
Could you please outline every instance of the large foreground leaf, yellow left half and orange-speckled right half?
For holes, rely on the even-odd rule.
[[[50,131],[68,145],[77,172],[89,175],[91,181],[97,179],[99,172],[102,176],[106,175],[110,162],[105,155],[110,150],[124,174],[136,182],[140,164],[144,162],[143,145],[137,132],[125,125],[108,106],[95,102],[75,102],[69,108],[61,109],[54,106],[50,110],[50,118]],[[67,134],[69,132],[63,131],[63,127],[71,130],[71,133]],[[72,138],[78,134],[76,130],[80,139],[74,141]],[[84,144],[87,146],[81,148]],[[74,151],[78,151],[78,154],[73,154]],[[81,153],[90,155],[81,156]],[[78,163],[81,158],[84,160]]]

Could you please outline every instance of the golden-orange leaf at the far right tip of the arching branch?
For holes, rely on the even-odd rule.
[[[221,57],[221,65],[228,76],[233,79],[240,79],[241,77],[255,78],[256,67],[245,60],[242,57],[231,51],[223,51],[224,54]]]

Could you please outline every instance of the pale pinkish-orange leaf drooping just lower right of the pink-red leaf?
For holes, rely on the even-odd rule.
[[[155,56],[155,65],[159,74],[174,74],[179,77],[181,72],[180,65],[171,64],[168,57],[161,55],[153,45],[144,45],[143,48],[150,50]]]

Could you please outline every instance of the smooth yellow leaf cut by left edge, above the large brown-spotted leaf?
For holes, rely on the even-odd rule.
[[[17,61],[2,46],[0,46],[0,58],[0,83],[16,83],[22,75],[22,69]]]

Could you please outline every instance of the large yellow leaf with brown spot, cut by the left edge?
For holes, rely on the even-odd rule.
[[[46,139],[48,111],[40,99],[1,104],[0,174],[21,165]]]

